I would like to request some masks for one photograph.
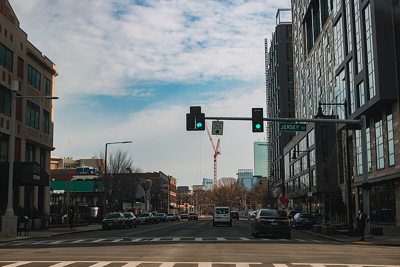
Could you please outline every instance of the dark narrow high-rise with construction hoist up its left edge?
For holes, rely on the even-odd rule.
[[[275,31],[272,33],[269,49],[265,45],[266,104],[270,117],[294,117],[292,25],[291,16],[287,17],[287,14],[290,14],[290,9],[277,10]],[[277,121],[268,123],[270,173],[267,176],[273,184],[284,175],[283,148],[295,132],[279,131]]]

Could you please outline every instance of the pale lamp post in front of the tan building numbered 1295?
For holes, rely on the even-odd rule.
[[[15,151],[15,115],[16,115],[16,98],[46,98],[46,99],[58,99],[56,96],[17,96],[18,91],[17,80],[11,81],[11,127],[9,133],[9,145],[8,145],[8,197],[7,197],[7,208],[5,214],[2,216],[1,223],[1,237],[15,237],[16,236],[16,216],[14,216],[14,210],[12,208],[12,177],[14,170],[14,151]]]

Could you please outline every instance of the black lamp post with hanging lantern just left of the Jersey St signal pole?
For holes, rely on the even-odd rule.
[[[322,105],[339,105],[344,106],[344,118],[347,119],[347,100],[344,99],[343,103],[318,103],[318,113],[315,117],[322,118],[325,115],[322,112]],[[351,168],[350,168],[350,149],[348,143],[348,131],[347,124],[345,124],[345,133],[346,133],[346,182],[347,182],[347,212],[348,212],[348,232],[347,236],[355,236],[354,226],[353,226],[353,214],[352,214],[352,189],[351,189]]]

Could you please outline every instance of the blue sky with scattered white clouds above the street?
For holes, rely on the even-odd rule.
[[[55,64],[52,155],[90,158],[121,146],[177,185],[213,178],[205,116],[265,110],[264,38],[290,0],[9,0],[28,40]],[[211,131],[211,120],[207,120]],[[254,167],[250,121],[225,120],[217,178]],[[214,144],[217,135],[212,135]]]

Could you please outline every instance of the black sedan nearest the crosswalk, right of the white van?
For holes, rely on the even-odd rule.
[[[290,220],[284,210],[263,208],[258,210],[251,221],[251,235],[280,234],[286,239],[291,237]]]

